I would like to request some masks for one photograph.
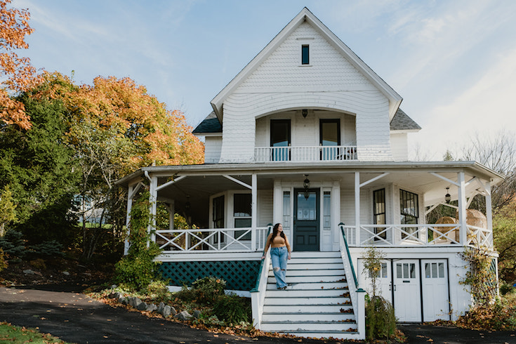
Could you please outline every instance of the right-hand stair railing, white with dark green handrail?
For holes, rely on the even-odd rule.
[[[366,307],[365,307],[365,296],[366,292],[364,289],[359,288],[357,274],[355,274],[355,267],[353,267],[353,260],[351,259],[350,248],[348,246],[348,240],[344,230],[344,224],[339,223],[338,227],[342,233],[340,237],[340,256],[344,264],[344,271],[346,274],[346,280],[348,276],[353,277],[352,283],[348,282],[348,289],[350,291],[351,303],[353,306],[353,312],[357,320],[357,331],[359,338],[366,338]]]

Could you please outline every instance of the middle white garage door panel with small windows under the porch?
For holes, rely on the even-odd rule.
[[[421,322],[421,286],[418,260],[395,260],[394,310],[400,322]]]

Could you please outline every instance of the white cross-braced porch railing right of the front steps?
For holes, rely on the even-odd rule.
[[[460,242],[460,224],[439,225],[360,225],[343,227],[351,247],[363,246],[449,246],[493,247],[493,232],[468,225],[466,242]]]

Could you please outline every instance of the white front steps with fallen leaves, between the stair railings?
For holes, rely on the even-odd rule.
[[[261,330],[315,338],[357,334],[340,252],[293,252],[286,290],[276,289],[269,267]]]

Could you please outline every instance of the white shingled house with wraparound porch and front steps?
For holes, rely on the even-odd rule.
[[[400,322],[456,319],[471,303],[459,281],[464,246],[493,249],[491,185],[502,176],[475,161],[408,161],[420,127],[400,95],[303,8],[213,100],[195,128],[205,164],[150,166],[119,181],[131,200],[150,183],[156,202],[195,230],[157,228],[161,270],[173,284],[214,275],[251,291],[255,326],[298,336],[364,338],[362,256],[386,255],[383,297]],[[445,195],[456,223],[427,223]],[[468,222],[472,198],[484,225]],[[454,202],[452,202],[454,203]],[[173,222],[173,221],[171,221]],[[277,291],[271,224],[293,247]]]

